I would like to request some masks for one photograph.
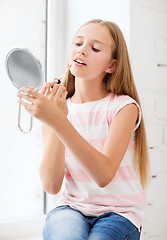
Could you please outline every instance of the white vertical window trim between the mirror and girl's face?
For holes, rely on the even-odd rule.
[[[47,12],[47,80],[64,71],[66,43],[66,0],[49,0]]]

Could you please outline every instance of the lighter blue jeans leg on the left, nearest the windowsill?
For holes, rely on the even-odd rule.
[[[83,214],[69,206],[61,206],[48,214],[43,239],[85,240],[88,232],[89,225]]]

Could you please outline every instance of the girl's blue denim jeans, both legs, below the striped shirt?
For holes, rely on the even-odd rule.
[[[44,240],[139,240],[140,232],[128,219],[114,212],[87,217],[69,206],[48,213]]]

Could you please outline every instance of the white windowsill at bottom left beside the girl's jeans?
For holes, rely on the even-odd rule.
[[[46,215],[0,221],[0,239],[41,240]]]

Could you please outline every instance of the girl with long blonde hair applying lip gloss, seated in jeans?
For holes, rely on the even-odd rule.
[[[69,65],[64,84],[47,83],[45,96],[30,87],[18,93],[19,103],[43,122],[43,188],[51,194],[61,190],[44,239],[137,240],[146,205],[147,143],[118,26],[102,20],[84,24]]]

